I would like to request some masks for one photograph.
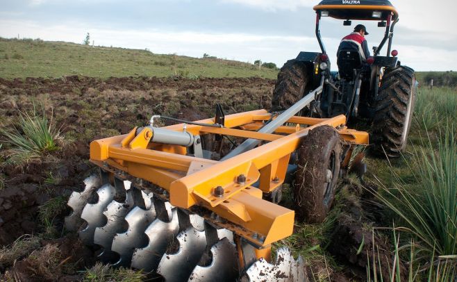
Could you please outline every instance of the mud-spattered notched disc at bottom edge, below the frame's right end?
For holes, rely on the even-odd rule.
[[[249,269],[245,276],[249,281],[306,281],[304,261],[294,260],[288,248],[280,248],[276,254],[276,263],[268,263],[260,258]]]

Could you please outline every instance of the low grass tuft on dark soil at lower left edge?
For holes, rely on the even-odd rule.
[[[40,238],[33,235],[23,235],[11,244],[0,249],[0,269],[13,265],[15,260],[31,253],[40,247]]]

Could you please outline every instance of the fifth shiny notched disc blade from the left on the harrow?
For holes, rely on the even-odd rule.
[[[131,266],[144,269],[146,272],[156,271],[163,254],[167,251],[167,246],[178,235],[178,231],[178,215],[174,208],[170,222],[156,219],[144,231],[149,238],[149,244],[142,249],[135,249]]]

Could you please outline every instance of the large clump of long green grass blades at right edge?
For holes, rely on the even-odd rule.
[[[394,175],[394,186],[378,194],[400,217],[402,226],[397,230],[414,240],[399,249],[414,247],[411,263],[438,278],[457,275],[457,136],[454,124],[440,131],[437,142],[429,135],[421,138],[422,146],[414,147],[410,163],[405,162],[414,183],[408,185]]]

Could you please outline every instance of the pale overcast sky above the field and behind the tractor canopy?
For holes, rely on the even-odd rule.
[[[299,51],[319,51],[310,0],[0,0],[0,37],[41,38],[149,49],[282,66]],[[392,0],[400,22],[393,49],[417,71],[457,70],[457,1]],[[439,5],[438,5],[439,3]],[[321,33],[335,62],[352,27],[324,18]],[[383,28],[367,23],[370,47]],[[336,64],[333,64],[334,66]]]

